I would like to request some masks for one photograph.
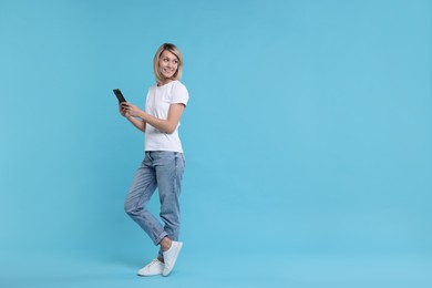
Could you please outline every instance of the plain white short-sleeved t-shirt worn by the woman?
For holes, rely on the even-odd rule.
[[[178,80],[165,85],[153,85],[148,89],[145,102],[145,112],[157,119],[168,117],[169,105],[183,103],[187,105],[189,94],[186,86]],[[178,127],[172,134],[166,134],[148,123],[145,126],[145,151],[172,151],[183,153],[182,142],[178,137]]]

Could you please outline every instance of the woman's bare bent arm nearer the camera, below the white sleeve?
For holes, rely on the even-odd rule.
[[[163,120],[163,119],[157,119],[155,116],[152,116],[148,113],[145,113],[144,111],[140,110],[138,107],[136,107],[135,105],[133,105],[131,103],[123,103],[123,106],[124,106],[126,113],[132,116],[132,119],[133,117],[141,119],[141,120],[134,119],[134,121],[144,122],[144,131],[145,131],[145,123],[148,123],[152,126],[154,126],[155,128],[161,130],[162,132],[167,133],[167,134],[172,134],[176,130],[178,122],[182,117],[183,111],[185,110],[185,105],[182,103],[171,104],[169,111],[168,111],[168,117],[166,120]],[[132,124],[135,125],[135,123],[132,123]],[[138,126],[136,126],[136,127],[138,127]]]

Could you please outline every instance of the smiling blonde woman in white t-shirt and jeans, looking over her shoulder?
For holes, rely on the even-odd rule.
[[[145,132],[145,158],[132,182],[125,212],[160,245],[158,256],[137,271],[140,276],[169,275],[183,246],[178,197],[185,161],[178,126],[189,96],[179,82],[182,68],[181,51],[163,44],[153,60],[156,84],[148,89],[145,112],[131,103],[120,105],[120,113]],[[145,207],[156,188],[164,226]]]

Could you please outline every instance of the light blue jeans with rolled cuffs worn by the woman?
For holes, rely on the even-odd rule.
[[[178,240],[178,197],[184,168],[183,153],[146,151],[145,158],[132,182],[124,209],[144,229],[155,245],[158,245],[165,236],[168,236],[172,240]],[[161,202],[160,216],[165,224],[164,226],[145,207],[156,187]]]

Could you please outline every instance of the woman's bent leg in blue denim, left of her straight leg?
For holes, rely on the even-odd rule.
[[[155,169],[146,156],[132,182],[131,189],[124,203],[127,215],[131,216],[157,245],[167,234],[160,222],[145,208],[145,205],[156,189]]]

